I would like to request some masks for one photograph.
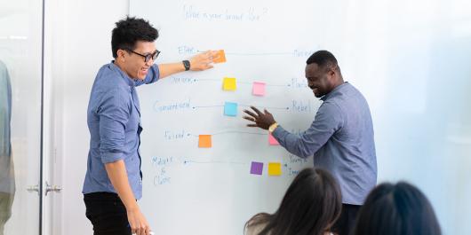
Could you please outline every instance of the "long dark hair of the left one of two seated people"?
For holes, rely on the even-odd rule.
[[[341,193],[333,176],[321,168],[305,168],[294,178],[273,215],[259,213],[245,229],[263,225],[259,235],[322,235],[340,215]]]

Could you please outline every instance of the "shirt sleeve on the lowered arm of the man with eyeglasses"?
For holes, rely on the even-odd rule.
[[[130,118],[129,99],[121,90],[109,90],[98,107],[100,116],[100,155],[103,163],[124,159],[125,126]]]

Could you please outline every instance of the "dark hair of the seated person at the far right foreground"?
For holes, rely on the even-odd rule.
[[[355,235],[441,235],[435,212],[415,186],[380,184],[360,209]]]

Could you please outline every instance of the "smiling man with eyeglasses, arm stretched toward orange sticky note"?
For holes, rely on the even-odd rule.
[[[147,20],[116,22],[114,61],[100,68],[87,110],[90,151],[84,179],[86,216],[95,235],[149,235],[136,202],[142,196],[140,102],[135,87],[168,75],[212,68],[216,51],[189,60],[155,65],[158,31]]]

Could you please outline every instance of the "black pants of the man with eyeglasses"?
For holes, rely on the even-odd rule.
[[[84,202],[93,235],[131,235],[126,208],[116,193],[87,193]]]

